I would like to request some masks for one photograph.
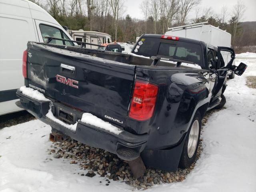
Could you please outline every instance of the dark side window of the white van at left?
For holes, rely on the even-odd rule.
[[[61,38],[61,39],[69,39],[68,36],[66,36],[66,34],[64,34],[60,29],[56,27],[48,26],[44,24],[40,24],[39,27],[40,27],[40,31],[44,39],[44,42],[48,41],[48,38],[44,38],[45,36]],[[68,46],[74,45],[72,42],[66,42],[66,41],[56,40],[56,39],[51,40],[50,44],[68,45]]]

